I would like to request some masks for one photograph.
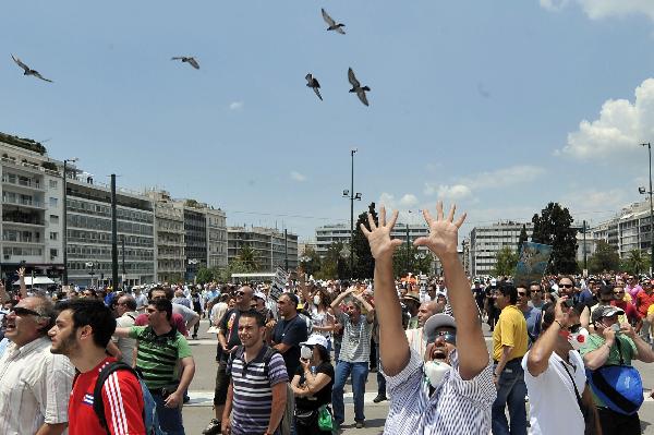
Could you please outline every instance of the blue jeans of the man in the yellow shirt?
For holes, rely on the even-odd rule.
[[[505,365],[497,380],[497,399],[493,403],[493,435],[526,435],[526,408],[524,397],[524,370],[520,365],[522,359],[511,360]],[[509,407],[510,428],[505,408]],[[553,416],[556,418],[556,416]]]

